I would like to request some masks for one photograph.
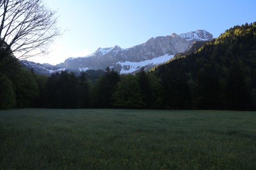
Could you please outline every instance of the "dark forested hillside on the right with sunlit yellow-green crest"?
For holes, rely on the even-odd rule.
[[[162,79],[164,108],[255,109],[256,23],[230,28],[153,74]]]

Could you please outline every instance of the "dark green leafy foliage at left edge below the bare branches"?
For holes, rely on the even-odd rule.
[[[3,91],[0,92],[0,108],[32,107],[39,95],[38,84],[31,73],[24,69],[11,52],[0,48],[0,75]],[[15,98],[14,98],[15,96]]]

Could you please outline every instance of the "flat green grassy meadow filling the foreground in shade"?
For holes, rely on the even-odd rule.
[[[0,111],[0,169],[256,169],[256,112]]]

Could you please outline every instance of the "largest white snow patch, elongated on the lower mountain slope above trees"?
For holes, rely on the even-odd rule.
[[[137,71],[145,66],[151,67],[151,66],[159,65],[160,63],[164,63],[173,57],[174,55],[165,54],[163,56],[147,59],[141,62],[125,61],[125,62],[117,62],[117,64],[122,66],[122,70],[120,71],[120,74],[128,74],[128,73],[133,73],[134,71]]]

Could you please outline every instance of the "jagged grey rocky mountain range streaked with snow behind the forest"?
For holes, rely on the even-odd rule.
[[[80,73],[86,70],[105,70],[107,66],[120,74],[136,73],[142,67],[149,70],[174,57],[175,54],[185,52],[196,41],[210,41],[212,34],[204,30],[197,30],[177,35],[152,37],[143,44],[122,49],[98,48],[96,52],[85,57],[67,58],[63,63],[49,65],[22,60],[23,66],[33,69],[36,74],[51,75],[63,70]]]

